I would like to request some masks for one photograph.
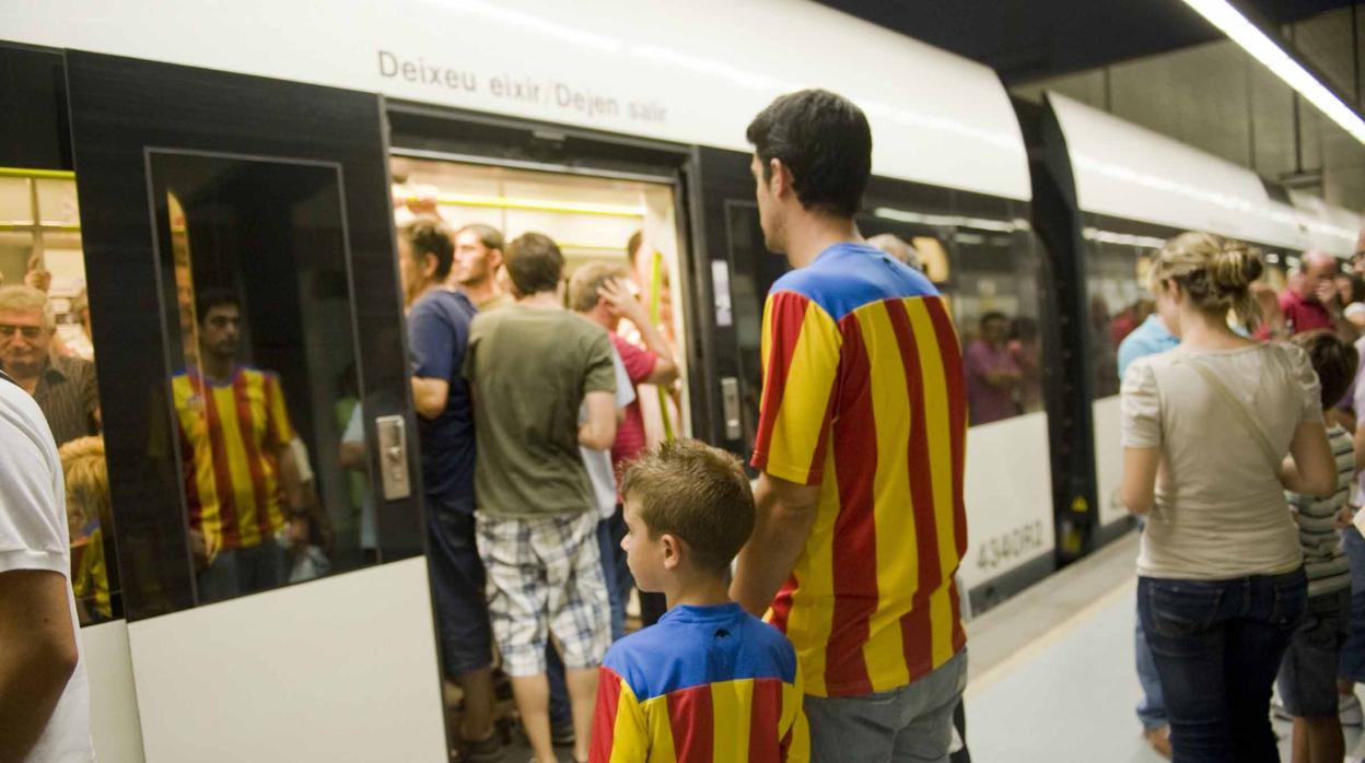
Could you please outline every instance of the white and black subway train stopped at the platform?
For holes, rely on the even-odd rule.
[[[1350,255],[1358,231],[815,3],[19,0],[0,19],[0,274],[48,273],[57,337],[98,371],[111,510],[78,556],[106,579],[82,629],[106,760],[445,759],[394,255],[423,205],[549,232],[571,268],[633,268],[684,370],[657,403],[666,434],[747,455],[786,263],[744,128],[784,91],[854,100],[874,134],[863,233],[916,247],[964,343],[1003,318],[1025,370],[968,434],[977,610],[1130,527],[1114,323],[1162,240],[1213,231],[1289,268]],[[242,295],[239,360],[277,374],[333,531],[330,575],[217,603],[182,455],[205,403],[177,396],[206,285]]]

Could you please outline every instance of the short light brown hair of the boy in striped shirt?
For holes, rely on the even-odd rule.
[[[696,440],[646,450],[625,468],[621,497],[650,538],[674,535],[696,565],[723,573],[753,532],[753,491],[740,460]]]

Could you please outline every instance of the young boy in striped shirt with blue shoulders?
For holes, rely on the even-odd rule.
[[[667,442],[625,471],[621,547],[669,611],[602,662],[592,763],[805,762],[796,652],[729,596],[753,495],[729,453]]]

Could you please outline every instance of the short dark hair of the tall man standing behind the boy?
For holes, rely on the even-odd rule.
[[[872,175],[872,130],[867,116],[829,90],[781,96],[759,112],[744,132],[771,177],[771,160],[792,172],[801,206],[853,217]]]

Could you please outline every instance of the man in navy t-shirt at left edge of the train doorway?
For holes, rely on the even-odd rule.
[[[465,760],[497,760],[493,635],[474,534],[474,408],[460,373],[475,308],[444,287],[455,248],[445,222],[415,220],[399,235],[399,278],[408,310],[437,633],[445,673],[464,692],[456,747]]]

